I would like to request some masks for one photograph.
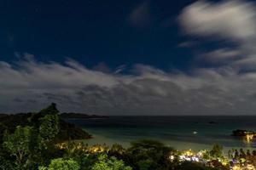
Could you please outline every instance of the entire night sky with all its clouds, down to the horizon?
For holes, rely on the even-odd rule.
[[[0,2],[0,112],[255,115],[253,1]]]

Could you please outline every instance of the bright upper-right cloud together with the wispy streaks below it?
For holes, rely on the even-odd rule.
[[[246,1],[198,1],[184,8],[178,21],[187,35],[207,38],[215,47],[204,50],[197,59],[236,70],[256,68],[256,10]],[[216,48],[217,47],[217,48]]]

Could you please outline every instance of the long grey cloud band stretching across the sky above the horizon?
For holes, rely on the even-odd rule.
[[[256,109],[254,72],[222,67],[188,75],[149,65],[127,72],[104,73],[73,60],[1,61],[0,112],[38,111],[50,102],[61,111],[104,115],[253,114]]]

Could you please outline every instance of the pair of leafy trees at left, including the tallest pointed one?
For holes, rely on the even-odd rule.
[[[39,112],[28,120],[32,126],[17,126],[14,133],[6,129],[2,144],[2,150],[6,151],[3,160],[12,161],[12,169],[37,169],[38,164],[49,161],[44,154],[59,133],[59,116],[54,104],[45,110],[49,114]]]

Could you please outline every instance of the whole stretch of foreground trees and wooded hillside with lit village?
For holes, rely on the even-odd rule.
[[[38,113],[2,118],[0,170],[218,170],[256,164],[256,151],[230,150],[224,156],[218,144],[197,153],[148,139],[126,149],[120,144],[89,146],[73,140],[81,129],[61,120],[55,104]]]

